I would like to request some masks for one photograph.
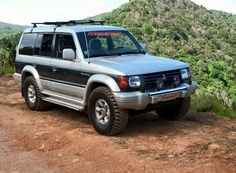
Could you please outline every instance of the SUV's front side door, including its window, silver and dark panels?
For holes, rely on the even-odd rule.
[[[76,52],[73,36],[71,34],[56,34],[55,48],[51,61],[52,81],[54,92],[67,96],[83,98],[85,84],[80,78],[80,63],[64,60],[63,50],[73,49]]]

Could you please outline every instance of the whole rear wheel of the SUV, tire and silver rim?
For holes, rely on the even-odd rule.
[[[29,109],[41,111],[49,108],[50,103],[42,100],[38,85],[33,76],[27,77],[23,84],[25,102]]]

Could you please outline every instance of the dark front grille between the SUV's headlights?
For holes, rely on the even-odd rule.
[[[174,78],[178,76],[181,80],[180,70],[172,70],[167,72],[158,72],[158,73],[149,73],[143,76],[144,80],[144,92],[153,92],[153,91],[160,91],[164,89],[173,89],[177,86],[175,85]],[[157,88],[157,79],[158,78],[165,78],[163,80],[163,87],[161,89]]]

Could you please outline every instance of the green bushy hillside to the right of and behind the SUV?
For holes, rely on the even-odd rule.
[[[150,54],[189,63],[199,84],[195,110],[230,114],[236,109],[235,15],[190,0],[130,0],[94,18],[128,28]]]

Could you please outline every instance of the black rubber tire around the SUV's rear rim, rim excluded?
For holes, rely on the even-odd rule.
[[[28,87],[32,85],[35,89],[36,101],[32,103],[28,97]],[[25,98],[25,102],[30,110],[35,111],[43,111],[50,107],[50,103],[42,100],[41,93],[39,91],[39,87],[33,76],[27,77],[23,83],[23,94]]]

